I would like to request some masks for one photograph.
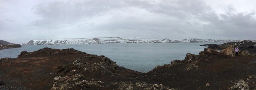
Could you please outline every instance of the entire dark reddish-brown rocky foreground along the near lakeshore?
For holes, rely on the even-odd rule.
[[[148,73],[119,67],[104,56],[75,49],[22,51],[0,59],[0,90],[253,90],[256,57],[221,52],[188,53],[184,60],[157,66]]]

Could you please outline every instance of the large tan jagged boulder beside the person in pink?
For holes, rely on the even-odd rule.
[[[220,53],[223,53],[224,55],[227,55],[229,57],[235,57],[234,46],[228,45],[228,47],[226,49],[221,50]]]

